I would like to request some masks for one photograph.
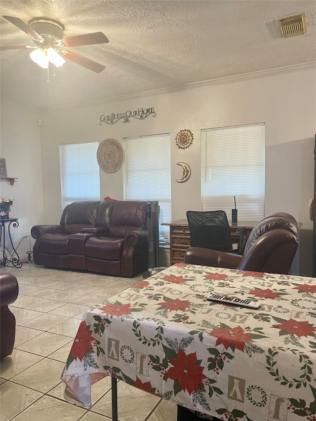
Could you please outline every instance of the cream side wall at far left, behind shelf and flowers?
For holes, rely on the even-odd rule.
[[[11,228],[15,246],[24,234],[31,234],[33,225],[43,223],[39,117],[38,110],[1,102],[0,156],[6,160],[7,175],[18,180],[14,186],[1,180],[0,194],[15,198],[10,212],[10,217],[18,218],[19,223],[19,227]],[[25,252],[29,250],[29,243],[24,240],[18,248],[20,258],[26,259]]]

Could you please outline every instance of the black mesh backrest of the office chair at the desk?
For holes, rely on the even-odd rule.
[[[232,236],[227,215],[217,211],[187,211],[191,247],[203,247],[231,253]]]

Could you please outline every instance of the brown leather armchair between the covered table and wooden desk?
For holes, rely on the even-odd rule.
[[[190,247],[185,263],[287,274],[298,247],[297,223],[288,213],[269,215],[251,231],[242,256]]]

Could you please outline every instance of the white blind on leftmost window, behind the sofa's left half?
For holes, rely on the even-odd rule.
[[[79,200],[100,200],[98,142],[59,145],[62,209]]]

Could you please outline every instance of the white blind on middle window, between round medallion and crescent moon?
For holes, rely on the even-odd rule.
[[[123,139],[124,200],[159,202],[159,242],[169,242],[171,221],[170,134]]]

